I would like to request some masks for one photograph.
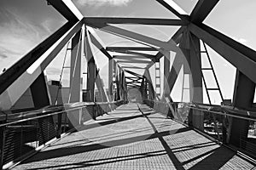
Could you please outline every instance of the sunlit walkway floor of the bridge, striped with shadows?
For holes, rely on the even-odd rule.
[[[146,105],[121,105],[15,169],[256,169]]]

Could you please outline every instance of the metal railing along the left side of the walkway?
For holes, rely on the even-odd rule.
[[[0,112],[0,169],[8,168],[16,162],[36,153],[45,145],[61,138],[61,134],[71,132],[75,127],[68,116],[79,111],[79,126],[84,117],[96,120],[108,111],[113,111],[124,101],[108,103],[80,102],[68,105],[55,105],[36,111],[13,113]]]

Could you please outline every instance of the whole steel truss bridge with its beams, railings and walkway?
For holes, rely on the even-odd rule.
[[[182,14],[176,6],[173,6],[172,1],[156,1],[177,15],[178,19],[86,17],[69,0],[47,0],[50,6],[54,7],[67,19],[67,23],[0,75],[1,168],[13,167],[21,162],[21,167],[16,168],[26,169],[35,166],[34,169],[40,169],[44,168],[44,166],[40,167],[40,161],[33,162],[33,159],[37,160],[38,154],[43,154],[43,158],[39,160],[46,162],[49,157],[53,158],[55,155],[55,159],[57,159],[74,154],[86,154],[90,151],[93,154],[97,150],[106,154],[106,148],[108,148],[109,153],[114,154],[114,150],[109,148],[116,147],[116,150],[119,149],[119,155],[116,155],[115,159],[105,157],[98,160],[103,161],[103,163],[96,162],[97,157],[84,162],[84,164],[82,163],[84,167],[78,162],[67,163],[71,167],[65,167],[67,165],[62,165],[60,160],[48,163],[56,169],[75,168],[76,166],[79,168],[102,166],[99,167],[101,169],[104,166],[108,167],[109,163],[112,163],[113,168],[108,167],[108,169],[139,169],[143,168],[139,166],[145,166],[144,164],[152,161],[150,160],[152,156],[163,154],[163,156],[169,156],[170,164],[160,163],[159,167],[155,167],[157,164],[155,163],[154,165],[148,165],[147,169],[161,169],[163,168],[161,166],[166,166],[167,169],[169,169],[168,166],[182,169],[191,166],[191,168],[196,166],[199,166],[197,168],[203,168],[203,166],[210,168],[213,166],[212,168],[215,169],[228,168],[229,166],[230,168],[234,166],[236,168],[253,168],[255,166],[253,159],[256,156],[256,142],[255,138],[249,137],[248,132],[256,121],[256,110],[255,105],[253,105],[256,82],[256,52],[203,23],[212,8],[218,3],[218,0],[199,0],[189,15]],[[180,28],[170,37],[169,41],[165,42],[121,28],[119,24],[180,26]],[[142,45],[136,47],[105,47],[96,30],[105,31]],[[59,98],[64,95],[61,92],[61,82],[58,82],[59,84],[56,86],[57,98],[52,99],[44,70],[66,45],[67,50],[71,52],[70,86],[67,101],[61,101]],[[92,46],[96,47],[108,59],[108,91],[104,88]],[[212,48],[236,67],[235,89],[230,105],[226,104],[221,93],[207,47]],[[170,62],[171,53],[175,54],[172,64]],[[201,66],[203,54],[207,54],[210,63],[209,68],[202,68]],[[81,60],[84,56],[87,65],[87,81],[86,90],[83,92],[81,88],[83,83],[81,79],[83,77]],[[160,60],[163,60],[161,65]],[[140,64],[145,66],[140,66]],[[137,72],[138,70],[143,70],[143,74]],[[153,70],[154,74],[150,70]],[[163,75],[160,75],[160,70],[163,70]],[[203,74],[204,70],[212,71],[214,80],[217,82],[216,88],[207,88],[207,82]],[[183,88],[183,93],[184,90],[187,90],[186,102],[183,99],[175,101],[170,95],[180,71],[183,71],[183,77],[185,75],[189,77],[189,86]],[[164,77],[164,80],[161,77]],[[203,88],[206,88],[209,104],[203,103]],[[28,110],[13,110],[13,106],[27,89],[31,92],[34,107]],[[223,105],[212,105],[210,91],[218,92]],[[154,122],[154,119],[158,118],[165,121]],[[139,121],[131,122],[137,119]],[[136,128],[138,124],[146,123],[145,120],[150,126],[145,125],[145,127],[139,129],[150,128],[154,130],[154,133],[146,133],[147,135],[143,133],[144,138],[142,136],[137,136],[137,138],[129,136],[127,139],[125,137],[119,139],[111,133],[111,130],[108,132],[109,127],[107,128],[107,126],[112,125],[113,128],[121,129],[121,134],[125,136],[128,131],[122,131],[127,130],[127,128],[121,127],[123,125],[132,126],[132,130],[140,133],[141,131]],[[88,122],[89,124],[86,124]],[[160,123],[161,127],[158,127],[157,123]],[[175,125],[171,126],[172,124]],[[166,131],[161,129],[164,127],[163,125],[168,127]],[[144,124],[141,126],[144,126]],[[170,133],[175,126],[182,130]],[[90,129],[96,129],[96,127],[101,127],[101,129],[88,133]],[[81,135],[82,137],[76,135],[76,133],[81,132],[86,138],[83,139],[83,135]],[[179,135],[182,133],[183,136]],[[102,134],[102,137],[99,137],[98,134]],[[117,144],[111,145],[115,143],[108,140],[107,143],[110,145],[105,142],[104,144],[107,145],[100,147],[93,145],[94,143],[83,145],[79,142],[95,138],[99,138],[100,141],[100,139],[105,138],[103,134],[108,134],[109,139],[113,136],[114,142]],[[70,138],[69,136],[73,137]],[[165,137],[168,137],[169,140]],[[162,151],[152,151],[159,147],[154,139],[159,139],[158,141],[163,147]],[[177,139],[183,139],[183,144],[190,145],[178,145],[175,143],[178,142]],[[196,139],[201,140],[197,141]],[[145,155],[132,155],[132,152],[121,156],[122,150],[128,150],[125,148],[125,144],[137,144],[142,140],[146,144],[143,143],[136,146],[137,149],[130,148],[129,150],[140,150],[141,152],[148,150],[148,148],[152,150],[149,150]],[[64,142],[61,143],[61,141]],[[147,141],[151,141],[153,145],[150,146]],[[168,141],[172,141],[174,145],[177,144],[176,146],[179,146],[180,149],[193,149],[196,155],[189,155],[191,156],[188,158],[189,160],[184,161],[182,157],[177,156],[176,149],[178,147],[173,148]],[[197,143],[193,143],[193,141]],[[82,151],[78,150],[74,153],[74,150],[78,149],[75,147],[73,150],[68,150],[68,147],[73,147],[73,145],[68,144],[73,142],[80,144],[79,150]],[[97,140],[93,140],[93,142],[97,142]],[[62,148],[56,149],[55,152],[48,149],[59,147],[61,144]],[[68,146],[66,147],[65,144]],[[124,145],[123,149],[120,147],[122,144]],[[45,149],[45,146],[49,147]],[[202,150],[213,146],[221,147],[221,150],[216,151],[216,148],[211,148],[212,152],[210,149]],[[43,149],[46,150],[45,153],[48,153],[49,157],[46,156],[47,154],[44,155]],[[197,149],[200,151],[196,151]],[[186,150],[181,152],[185,154],[187,153]],[[62,151],[63,155],[60,154]],[[213,152],[217,155],[212,154]],[[35,153],[38,154],[35,155]],[[218,153],[223,156],[223,161],[216,161],[220,156]],[[207,159],[206,157],[209,154],[212,154],[210,161],[201,164],[200,162]],[[87,159],[86,156],[84,159]],[[135,158],[130,159],[129,156],[135,156]],[[128,158],[130,161],[127,161]],[[71,159],[78,161],[77,158]],[[142,159],[144,164],[140,164]],[[133,161],[132,165],[129,164],[131,161]],[[162,158],[161,161],[163,161]],[[39,164],[37,164],[38,162]],[[113,164],[113,162],[119,163],[119,167],[114,167],[116,164]],[[123,164],[120,164],[120,162]],[[221,163],[218,164],[219,162]],[[190,167],[188,163],[191,164]],[[217,165],[217,167],[214,167],[214,165]]]

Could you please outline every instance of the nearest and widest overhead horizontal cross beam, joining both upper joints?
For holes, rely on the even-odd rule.
[[[86,17],[85,22],[97,24],[141,24],[157,26],[187,26],[189,21],[176,19],[146,19],[146,18],[109,18]]]

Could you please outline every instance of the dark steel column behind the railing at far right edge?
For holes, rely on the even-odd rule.
[[[236,83],[233,96],[233,105],[241,109],[250,109],[253,105],[255,83],[245,76],[241,71],[236,71]],[[248,134],[249,121],[236,117],[231,118],[230,144],[237,147],[245,147]]]

